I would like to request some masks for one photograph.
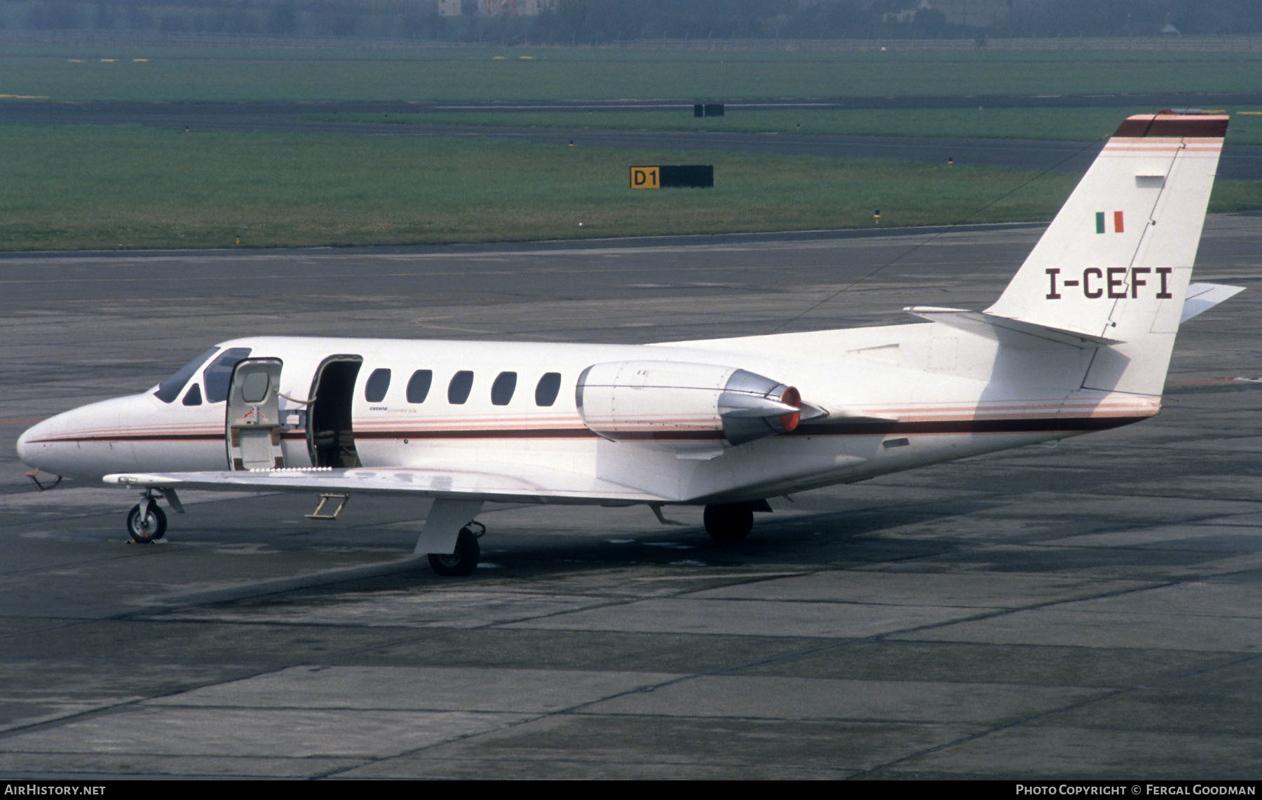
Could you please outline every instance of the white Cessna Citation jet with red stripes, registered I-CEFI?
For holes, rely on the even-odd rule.
[[[769,497],[1152,416],[1179,323],[1239,291],[1190,284],[1225,116],[1132,116],[984,312],[639,346],[249,337],[139,395],[27,430],[38,472],[140,492],[432,501],[418,554],[478,559],[482,503],[705,506],[748,535]],[[477,534],[475,531],[478,531]]]

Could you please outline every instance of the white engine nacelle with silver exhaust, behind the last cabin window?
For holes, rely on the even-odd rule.
[[[575,392],[583,424],[613,442],[743,444],[798,426],[793,386],[747,370],[676,361],[593,363]]]

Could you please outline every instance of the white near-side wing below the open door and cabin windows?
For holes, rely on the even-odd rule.
[[[477,498],[488,502],[669,502],[612,481],[522,464],[478,463],[466,469],[413,467],[295,467],[236,472],[116,473],[106,483],[130,487],[256,492],[345,492]]]

